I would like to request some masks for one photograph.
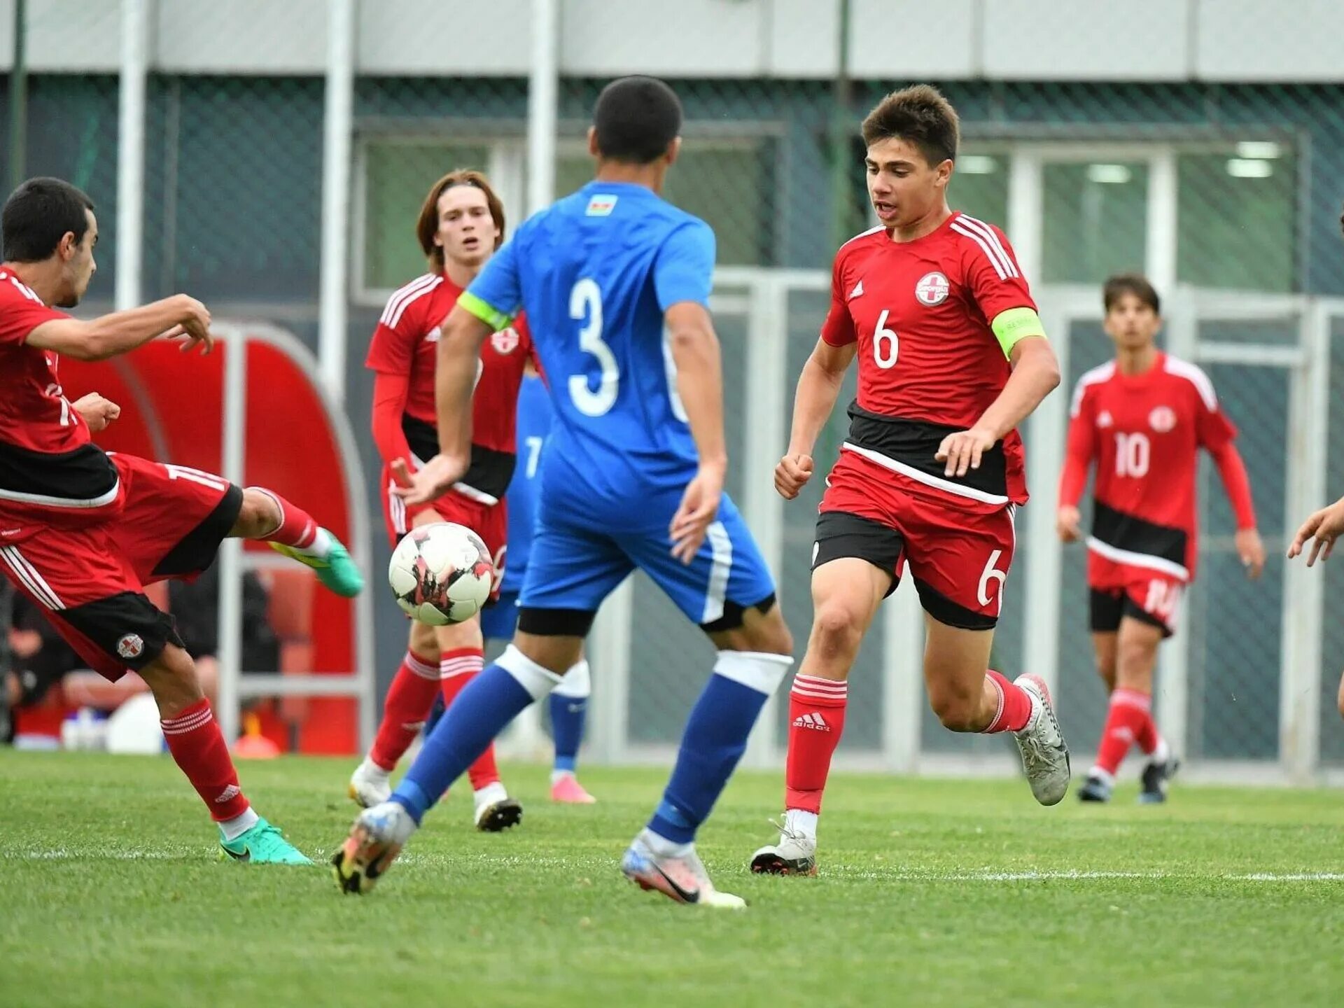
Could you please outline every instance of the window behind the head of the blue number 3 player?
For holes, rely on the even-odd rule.
[[[774,142],[688,137],[663,195],[704,219],[718,237],[724,266],[770,266],[775,254]],[[555,192],[567,195],[593,177],[593,159],[582,148],[562,149]]]

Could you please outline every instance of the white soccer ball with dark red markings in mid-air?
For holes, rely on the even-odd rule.
[[[411,620],[446,626],[481,612],[495,582],[495,564],[470,528],[435,521],[402,538],[387,564],[387,582]]]

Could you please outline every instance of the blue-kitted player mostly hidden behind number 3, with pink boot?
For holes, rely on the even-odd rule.
[[[534,368],[523,378],[517,391],[517,468],[508,485],[508,566],[500,585],[499,605],[481,613],[485,640],[508,641],[517,628],[517,593],[532,551],[536,523],[536,497],[542,488],[542,449],[551,434],[551,396]],[[551,801],[562,805],[591,805],[597,801],[578,780],[579,743],[593,676],[587,660],[579,659],[560,684],[551,691],[551,735],[555,761],[551,765]]]

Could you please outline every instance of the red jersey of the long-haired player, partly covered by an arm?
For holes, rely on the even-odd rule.
[[[402,429],[417,464],[438,452],[434,405],[438,325],[461,293],[442,274],[426,273],[413,280],[387,301],[364,360],[372,371],[410,378]],[[513,473],[517,390],[532,356],[532,339],[523,316],[481,347],[472,402],[472,468],[462,484],[485,497],[501,499]]]

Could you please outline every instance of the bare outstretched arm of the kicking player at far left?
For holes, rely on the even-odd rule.
[[[200,345],[206,353],[215,345],[210,335],[210,310],[187,294],[173,294],[142,308],[89,321],[52,319],[30,332],[27,343],[75,360],[106,360],[160,336],[184,337],[183,349]]]

